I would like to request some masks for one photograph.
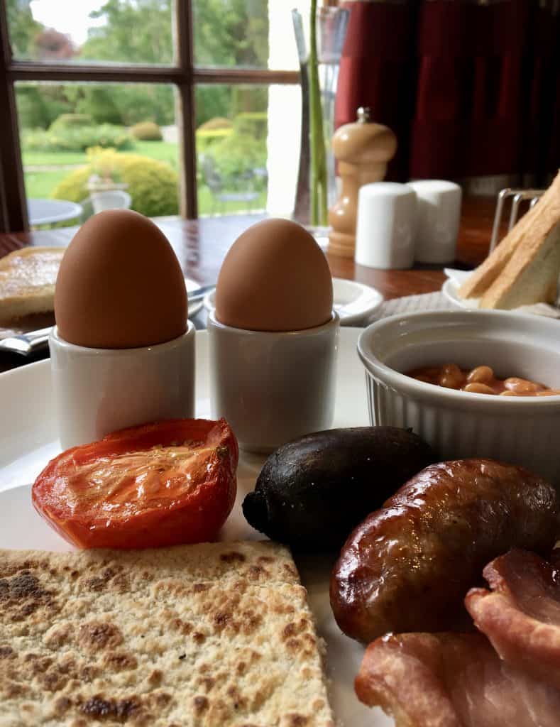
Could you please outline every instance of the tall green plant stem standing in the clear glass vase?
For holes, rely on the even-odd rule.
[[[325,137],[322,126],[319,62],[317,59],[317,0],[311,1],[311,33],[309,42],[309,174],[312,225],[327,224],[327,165]]]

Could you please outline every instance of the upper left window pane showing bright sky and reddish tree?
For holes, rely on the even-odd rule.
[[[58,63],[173,63],[173,1],[6,0],[12,53]]]

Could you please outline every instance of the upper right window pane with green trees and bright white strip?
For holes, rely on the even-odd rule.
[[[291,9],[309,0],[192,0],[198,67],[296,70]]]

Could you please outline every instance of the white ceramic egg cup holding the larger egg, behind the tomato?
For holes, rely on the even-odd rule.
[[[144,348],[86,348],[49,338],[52,385],[62,449],[125,427],[193,417],[195,326]]]

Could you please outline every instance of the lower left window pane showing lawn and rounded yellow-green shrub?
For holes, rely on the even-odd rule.
[[[179,214],[174,94],[158,84],[17,83],[28,203],[39,210],[52,209],[50,199],[82,204],[81,219],[68,225],[107,205],[148,217]],[[31,217],[32,225],[42,219]]]

